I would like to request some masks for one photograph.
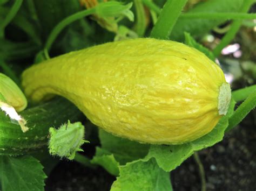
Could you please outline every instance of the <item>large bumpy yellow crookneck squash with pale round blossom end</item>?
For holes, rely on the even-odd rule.
[[[218,65],[174,41],[132,39],[60,55],[25,70],[33,101],[61,95],[113,135],[181,144],[210,132],[231,90]]]

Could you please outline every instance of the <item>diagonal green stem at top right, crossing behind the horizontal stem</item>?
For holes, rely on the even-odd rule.
[[[254,0],[245,0],[244,1],[244,4],[242,4],[242,7],[241,7],[241,13],[246,13],[250,7],[251,7],[251,4],[253,3]],[[221,50],[227,46],[231,40],[234,39],[235,37],[235,34],[237,34],[240,26],[242,24],[242,20],[235,20],[231,27],[230,27],[230,30],[225,34],[225,36],[221,39],[219,45],[217,47],[215,47],[215,49],[213,50],[213,53],[215,55],[215,57],[218,57],[221,53]]]

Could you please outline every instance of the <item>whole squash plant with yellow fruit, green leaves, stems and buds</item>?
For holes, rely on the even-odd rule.
[[[170,172],[255,107],[256,86],[231,93],[215,63],[253,2],[0,1],[2,190],[44,190],[50,154],[102,166],[111,190],[172,190]],[[213,51],[195,40],[227,19]],[[85,116],[102,128],[92,158]]]

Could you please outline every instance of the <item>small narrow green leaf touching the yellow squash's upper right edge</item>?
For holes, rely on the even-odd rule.
[[[198,51],[203,52],[208,58],[215,62],[214,54],[203,45],[197,43],[197,41],[190,35],[190,33],[184,32],[186,45],[198,49]]]

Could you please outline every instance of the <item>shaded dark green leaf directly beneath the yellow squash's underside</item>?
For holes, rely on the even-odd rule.
[[[104,150],[113,153],[114,158],[121,165],[140,158],[144,158],[149,151],[150,145],[140,144],[132,140],[111,135],[103,130],[99,130],[99,139]]]

